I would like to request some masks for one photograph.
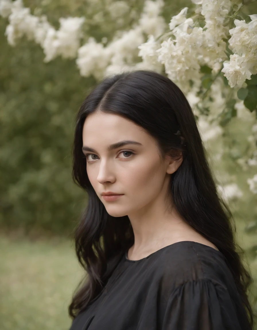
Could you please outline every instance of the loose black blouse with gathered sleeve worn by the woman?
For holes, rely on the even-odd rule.
[[[182,241],[119,261],[70,330],[250,330],[224,255]]]

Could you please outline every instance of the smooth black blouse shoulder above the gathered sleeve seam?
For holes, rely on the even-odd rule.
[[[160,250],[157,256],[162,281],[179,286],[187,281],[210,280],[223,285],[233,276],[225,256],[202,243],[181,241]]]

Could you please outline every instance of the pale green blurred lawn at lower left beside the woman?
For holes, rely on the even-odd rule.
[[[68,240],[0,236],[0,329],[69,329],[67,307],[82,275]]]

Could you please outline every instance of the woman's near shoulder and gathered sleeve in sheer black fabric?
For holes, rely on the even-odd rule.
[[[184,241],[160,252],[163,328],[249,329],[233,275],[220,251]]]

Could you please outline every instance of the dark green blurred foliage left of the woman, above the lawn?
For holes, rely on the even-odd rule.
[[[0,224],[70,233],[86,202],[71,178],[74,117],[95,81],[74,61],[7,44],[0,20]]]

